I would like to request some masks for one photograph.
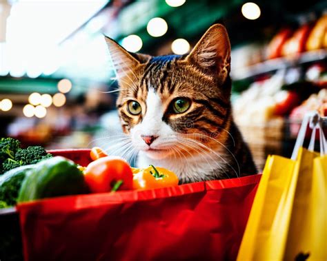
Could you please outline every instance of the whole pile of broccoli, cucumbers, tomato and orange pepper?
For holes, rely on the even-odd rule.
[[[178,185],[177,176],[161,167],[131,168],[99,147],[91,149],[92,162],[82,167],[43,147],[21,149],[18,140],[1,138],[0,208],[19,202],[117,190],[157,189]]]

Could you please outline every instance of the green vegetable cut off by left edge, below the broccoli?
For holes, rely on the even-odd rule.
[[[0,209],[16,205],[21,183],[30,175],[33,167],[32,165],[17,167],[0,176]]]

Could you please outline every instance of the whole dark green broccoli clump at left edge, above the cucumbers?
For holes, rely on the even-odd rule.
[[[21,149],[21,143],[14,138],[1,138],[0,140],[0,175],[16,167],[38,163],[51,158],[41,146],[30,146]]]

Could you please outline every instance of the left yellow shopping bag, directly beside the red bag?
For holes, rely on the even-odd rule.
[[[297,175],[295,161],[281,156],[269,156],[261,177],[257,194],[252,205],[246,231],[241,242],[237,260],[279,260],[282,257],[286,241],[286,233],[280,234],[277,219],[283,219],[288,225],[290,213],[281,213],[286,204],[288,194],[294,193]],[[292,190],[293,189],[293,190]],[[279,221],[279,220],[278,220]],[[273,229],[275,227],[275,229]],[[272,231],[279,233],[277,237]]]

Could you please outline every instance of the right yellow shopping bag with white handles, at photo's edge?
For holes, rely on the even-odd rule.
[[[315,132],[319,129],[320,151],[324,155],[326,138],[321,121],[316,119],[312,128],[309,149],[313,151]],[[327,260],[327,158],[321,155],[302,152],[284,260]]]

